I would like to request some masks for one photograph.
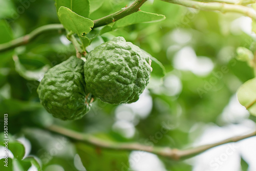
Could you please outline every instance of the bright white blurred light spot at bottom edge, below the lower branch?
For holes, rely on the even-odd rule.
[[[159,158],[151,153],[134,151],[130,154],[129,163],[135,171],[166,171]]]

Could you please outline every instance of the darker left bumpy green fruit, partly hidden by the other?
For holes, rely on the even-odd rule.
[[[71,56],[49,69],[41,80],[37,88],[40,102],[54,117],[75,120],[89,112],[83,64],[83,60]]]

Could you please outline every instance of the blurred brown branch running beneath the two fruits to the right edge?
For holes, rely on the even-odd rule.
[[[202,145],[191,149],[185,149],[185,150],[179,150],[179,149],[172,149],[169,147],[156,147],[156,146],[147,146],[139,143],[118,143],[118,142],[110,142],[110,141],[104,141],[102,139],[96,138],[90,134],[83,134],[78,133],[69,129],[66,129],[64,127],[60,127],[57,125],[51,125],[47,127],[48,130],[67,136],[69,138],[83,141],[98,147],[102,148],[109,148],[109,149],[115,149],[115,150],[127,150],[127,151],[144,151],[144,152],[150,152],[154,153],[156,155],[169,157],[172,160],[182,160],[186,158],[190,158],[193,156],[196,156],[202,152],[205,152],[207,149],[226,144],[229,142],[237,142],[249,137],[256,136],[256,130],[250,134],[244,135],[244,136],[237,136],[233,138],[228,138],[226,140],[208,144],[208,145]]]

